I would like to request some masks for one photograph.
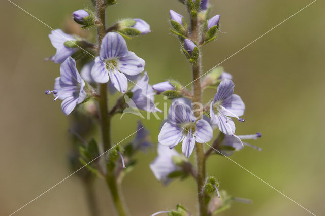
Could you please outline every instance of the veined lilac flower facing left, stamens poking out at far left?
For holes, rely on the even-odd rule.
[[[67,116],[75,109],[76,105],[83,102],[87,96],[85,81],[81,79],[76,68],[76,61],[69,57],[60,66],[60,77],[55,79],[54,90],[45,91],[46,94],[53,93],[54,101],[63,100],[61,109]]]

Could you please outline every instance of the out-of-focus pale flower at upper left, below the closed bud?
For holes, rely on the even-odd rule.
[[[56,53],[54,57],[51,58],[55,63],[62,63],[78,50],[78,48],[64,46],[64,42],[75,41],[76,39],[72,35],[64,33],[61,29],[52,30],[49,34],[49,38],[53,47],[56,48]]]

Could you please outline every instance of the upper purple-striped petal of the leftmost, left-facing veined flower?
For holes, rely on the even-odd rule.
[[[76,67],[75,59],[69,57],[60,66],[60,79],[63,83],[76,85],[81,83],[81,77]]]

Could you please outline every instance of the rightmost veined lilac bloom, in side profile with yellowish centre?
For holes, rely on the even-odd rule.
[[[228,135],[235,133],[235,123],[230,117],[239,118],[244,114],[245,104],[237,94],[234,94],[234,83],[231,80],[224,79],[218,86],[218,92],[215,94],[210,104],[211,124],[218,125],[219,130]]]

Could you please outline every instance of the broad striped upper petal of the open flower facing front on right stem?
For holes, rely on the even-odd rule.
[[[196,121],[196,117],[194,116],[191,107],[178,101],[172,103],[169,107],[167,119],[174,125]]]

